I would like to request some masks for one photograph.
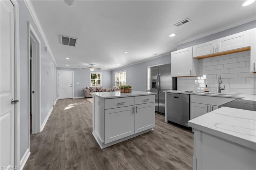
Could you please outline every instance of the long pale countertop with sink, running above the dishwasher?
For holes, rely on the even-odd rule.
[[[229,97],[229,98],[234,98],[234,99],[245,99],[245,100],[252,100],[256,101],[256,95],[250,95],[250,94],[238,94],[238,95],[232,95],[232,93],[223,93],[223,94],[230,94],[230,95],[222,95],[221,93],[219,94],[213,94],[211,92],[208,93],[200,93],[200,91],[196,91],[193,93],[187,93],[184,91],[180,90],[166,90],[164,91],[165,93],[183,93],[183,94],[189,94],[189,95],[203,95],[203,96],[215,96],[215,97]]]

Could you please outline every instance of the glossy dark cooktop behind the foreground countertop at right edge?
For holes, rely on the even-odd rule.
[[[230,101],[228,103],[220,105],[220,107],[232,107],[236,109],[256,111],[256,101],[236,99],[234,101]]]

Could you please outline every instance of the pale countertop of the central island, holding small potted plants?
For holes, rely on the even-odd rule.
[[[98,96],[102,99],[119,98],[119,97],[132,97],[132,96],[143,96],[143,95],[154,95],[156,93],[145,92],[145,91],[132,91],[131,93],[120,93],[120,91],[111,92],[92,92],[90,95]]]

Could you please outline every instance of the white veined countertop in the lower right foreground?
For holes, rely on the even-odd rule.
[[[188,126],[256,149],[256,112],[221,107],[188,121]]]

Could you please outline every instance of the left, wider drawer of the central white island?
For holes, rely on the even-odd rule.
[[[120,97],[115,99],[105,99],[105,109],[126,107],[134,105],[134,97]]]

